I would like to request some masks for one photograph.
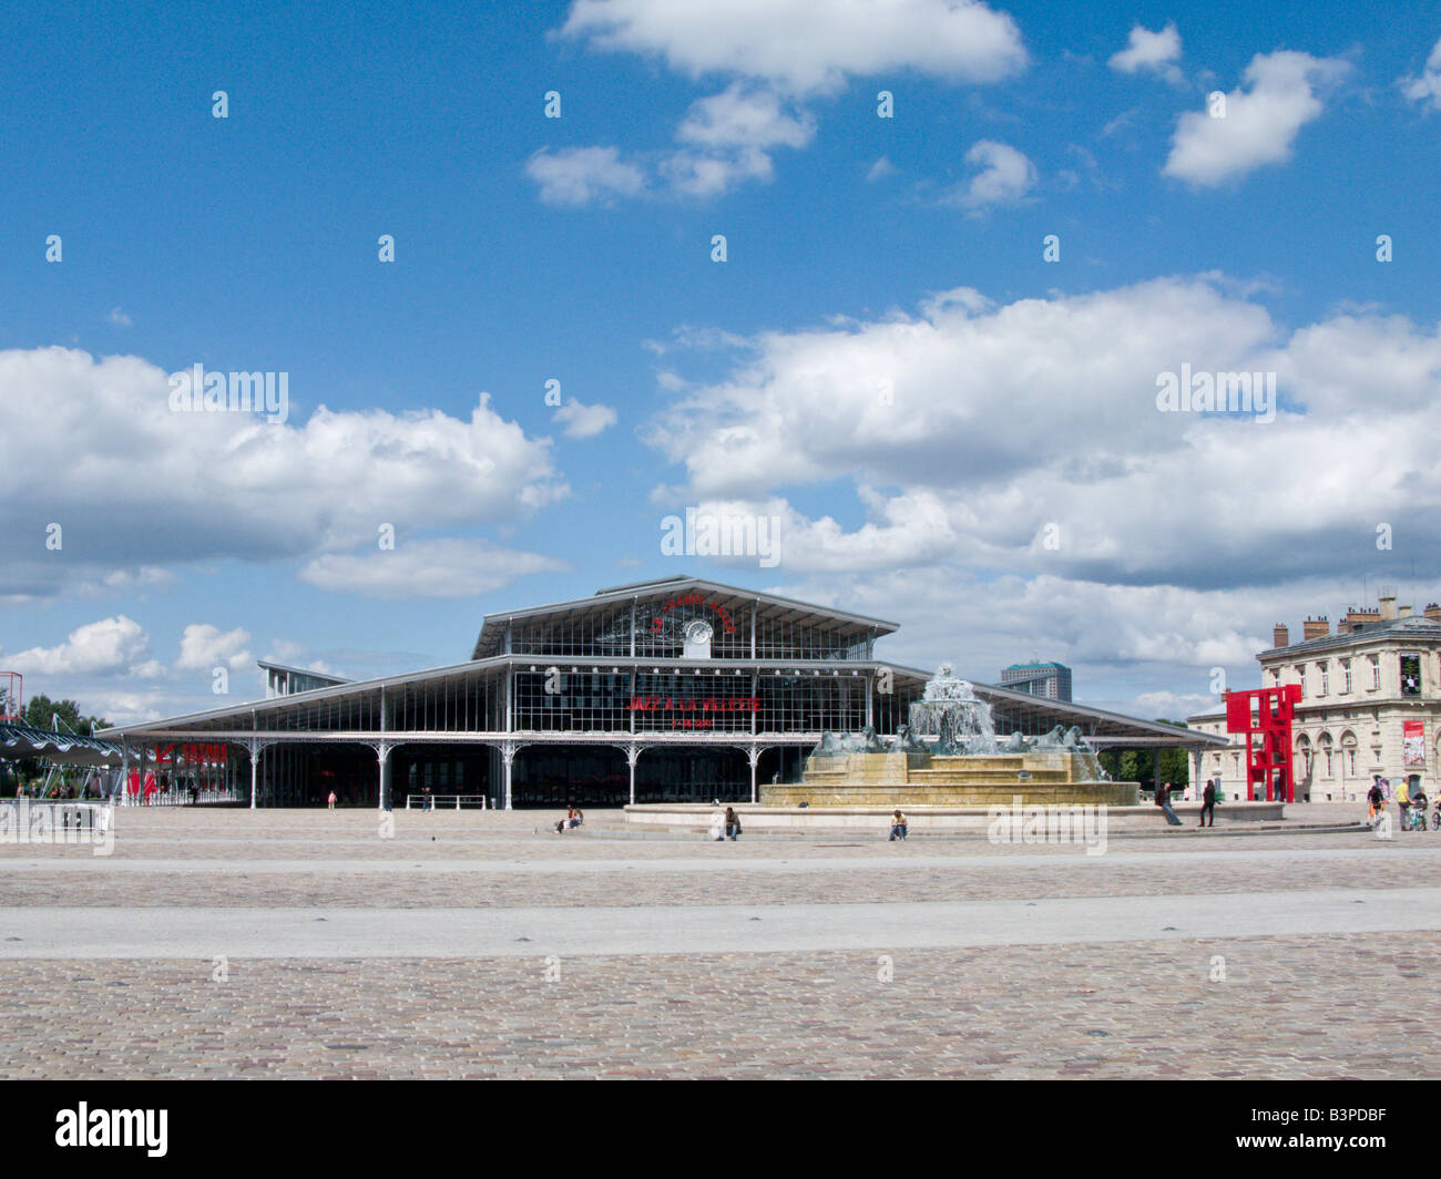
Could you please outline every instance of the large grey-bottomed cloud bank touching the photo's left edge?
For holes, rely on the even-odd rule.
[[[307,391],[291,381],[291,396]],[[344,551],[396,529],[509,522],[568,493],[552,442],[468,419],[320,405],[303,424],[173,412],[163,369],[63,347],[0,352],[0,594],[160,584],[157,568]],[[104,510],[97,510],[104,504]],[[48,526],[62,543],[48,549]]]

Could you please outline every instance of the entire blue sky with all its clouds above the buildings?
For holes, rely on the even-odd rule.
[[[696,571],[1177,715],[1363,578],[1441,597],[1441,4],[4,12],[30,692],[160,716]],[[174,414],[196,363],[285,372],[288,421]],[[1183,363],[1281,412],[1160,414]],[[686,507],[778,516],[780,562],[664,556]]]

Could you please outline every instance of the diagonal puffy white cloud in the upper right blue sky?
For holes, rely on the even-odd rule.
[[[1216,186],[1290,160],[1297,133],[1324,110],[1317,91],[1349,71],[1350,63],[1337,58],[1258,53],[1241,78],[1242,88],[1226,95],[1225,117],[1213,118],[1209,111],[1180,117],[1161,174]]]

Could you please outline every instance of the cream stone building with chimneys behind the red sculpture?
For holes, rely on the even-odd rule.
[[[1295,794],[1303,801],[1362,801],[1375,775],[1441,787],[1441,605],[1419,614],[1383,591],[1379,605],[1352,607],[1334,631],[1307,618],[1297,641],[1277,623],[1261,651],[1261,686],[1294,683]],[[1226,735],[1225,709],[1187,718],[1193,729]],[[1192,761],[1192,786],[1219,775],[1226,798],[1246,793],[1245,737]]]

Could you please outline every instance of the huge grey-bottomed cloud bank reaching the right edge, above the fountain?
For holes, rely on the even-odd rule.
[[[1282,409],[1270,424],[1161,412],[1159,379],[1183,365],[1274,372]],[[1405,520],[1408,552],[1431,561],[1438,375],[1434,324],[1349,314],[1282,332],[1213,277],[1000,306],[963,288],[914,316],[751,339],[643,437],[686,471],[661,503],[781,516],[785,571],[1208,591],[1349,575],[1376,520]],[[798,507],[797,489],[837,480],[852,502]]]

